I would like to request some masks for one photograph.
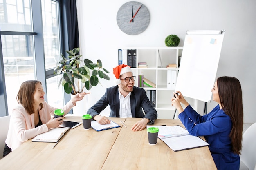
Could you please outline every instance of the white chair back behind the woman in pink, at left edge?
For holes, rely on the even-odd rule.
[[[7,137],[7,132],[9,130],[11,116],[0,117],[0,159],[3,157],[5,139]]]

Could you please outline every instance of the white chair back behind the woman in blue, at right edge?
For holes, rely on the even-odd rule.
[[[256,169],[256,123],[252,124],[243,134],[240,170]]]

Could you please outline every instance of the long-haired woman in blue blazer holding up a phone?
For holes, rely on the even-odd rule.
[[[207,115],[199,115],[182,93],[174,94],[172,105],[177,108],[179,119],[191,135],[204,136],[218,170],[239,170],[242,148],[243,104],[238,79],[219,77],[211,89],[213,101],[218,105]],[[181,104],[184,104],[183,110]]]

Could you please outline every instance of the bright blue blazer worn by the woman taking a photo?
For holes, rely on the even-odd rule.
[[[205,137],[218,170],[239,170],[240,157],[232,152],[229,138],[232,121],[219,105],[204,116],[189,105],[179,119],[191,135]]]

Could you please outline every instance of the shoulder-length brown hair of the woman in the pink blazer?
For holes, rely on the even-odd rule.
[[[17,94],[17,101],[19,104],[22,104],[22,106],[24,106],[24,108],[27,110],[27,112],[31,115],[32,113],[34,113],[34,93],[36,91],[36,84],[42,84],[40,81],[38,80],[28,80],[23,82],[20,85],[20,90]],[[40,103],[40,110],[43,108],[43,104]]]

